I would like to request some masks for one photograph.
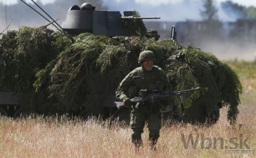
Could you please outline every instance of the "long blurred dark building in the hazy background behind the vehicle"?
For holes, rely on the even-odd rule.
[[[171,28],[176,26],[177,38],[181,43],[193,43],[198,37],[203,37],[202,33],[207,31],[207,25],[202,21],[185,22],[145,22],[148,29],[154,28],[161,35],[161,39],[171,37]],[[225,40],[244,40],[246,42],[256,41],[256,19],[239,19],[236,22],[220,23],[218,28],[214,28],[213,34]],[[217,31],[217,33],[216,33]],[[205,38],[213,38],[204,36]]]

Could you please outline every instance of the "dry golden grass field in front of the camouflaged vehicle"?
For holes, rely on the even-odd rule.
[[[135,152],[130,134],[131,129],[116,122],[70,120],[59,117],[30,117],[13,120],[0,118],[1,157],[256,157],[256,62],[228,62],[240,76],[243,84],[241,105],[236,126],[226,120],[227,108],[221,109],[219,121],[211,127],[194,125],[165,125],[160,132],[157,151],[148,145],[148,130],[144,129],[143,148]],[[251,69],[246,67],[252,67]],[[110,125],[111,124],[111,125]],[[193,149],[189,134],[198,144]],[[202,134],[206,138],[202,138]],[[185,142],[182,141],[184,135]],[[219,138],[214,149],[214,138]],[[221,149],[221,139],[223,147]],[[243,138],[243,141],[241,139]],[[201,140],[202,139],[202,140]],[[230,139],[233,142],[230,143]],[[212,142],[209,143],[210,140]],[[246,142],[243,144],[243,142]],[[204,143],[201,143],[204,142]],[[201,145],[202,148],[201,149]],[[240,145],[242,145],[240,149]],[[246,146],[248,145],[248,147]],[[237,146],[237,147],[236,147]],[[247,154],[227,153],[230,147]],[[247,148],[249,149],[247,149]],[[209,149],[205,149],[209,148]],[[234,151],[233,151],[234,152]]]

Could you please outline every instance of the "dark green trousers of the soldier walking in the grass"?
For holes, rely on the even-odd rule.
[[[132,109],[130,127],[132,128],[132,142],[135,146],[139,146],[141,142],[141,133],[145,122],[148,122],[148,131],[150,146],[154,146],[160,136],[160,129],[162,125],[162,113],[152,112],[151,106],[143,105],[139,109]]]

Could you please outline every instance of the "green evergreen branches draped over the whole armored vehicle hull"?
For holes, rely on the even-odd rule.
[[[60,32],[45,27],[9,31],[0,39],[0,91],[22,94],[24,109],[39,113],[69,113],[85,107],[102,113],[101,100],[115,94],[121,80],[138,67],[139,53],[151,50],[174,91],[201,87],[184,96],[186,109],[203,98],[207,112],[218,103],[229,105],[228,120],[236,121],[241,84],[238,76],[215,56],[177,42],[134,37],[127,53],[123,38],[83,33],[74,44]],[[140,42],[140,43],[138,43]],[[178,102],[178,98],[175,98]]]

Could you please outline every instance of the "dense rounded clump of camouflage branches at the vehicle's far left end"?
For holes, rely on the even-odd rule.
[[[67,42],[60,33],[45,26],[24,27],[3,35],[0,38],[0,91],[19,94],[24,108],[35,111],[34,104],[39,100],[33,87],[35,74],[56,59]]]

